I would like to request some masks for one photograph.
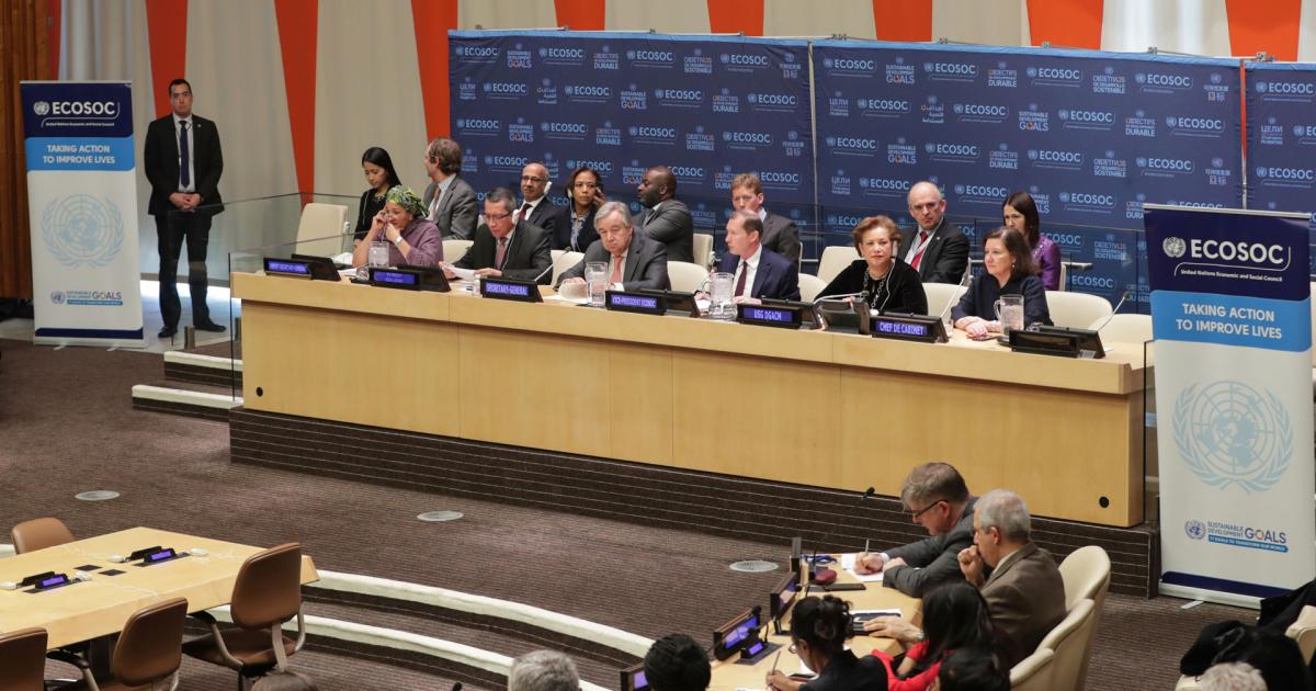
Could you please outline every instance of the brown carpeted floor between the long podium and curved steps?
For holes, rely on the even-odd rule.
[[[730,562],[786,557],[784,545],[232,466],[225,425],[132,409],[132,386],[159,379],[159,355],[20,341],[0,341],[0,525],[53,515],[76,534],[151,525],[254,545],[295,540],[322,569],[524,601],[647,637],[703,638],[776,578],[732,573]],[[74,500],[84,490],[122,498]],[[416,520],[441,508],[466,519]],[[1173,688],[1178,658],[1204,624],[1253,616],[1182,604],[1109,596],[1088,688]],[[450,686],[336,654],[299,657],[321,688]],[[232,688],[232,677],[190,663],[182,688]]]

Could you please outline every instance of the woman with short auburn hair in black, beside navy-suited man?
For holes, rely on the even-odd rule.
[[[854,249],[859,259],[841,270],[819,294],[862,294],[870,309],[924,315],[928,295],[919,272],[896,257],[900,251],[900,229],[887,216],[870,216],[854,226]]]

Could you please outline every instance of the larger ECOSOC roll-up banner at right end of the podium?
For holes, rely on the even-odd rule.
[[[1316,573],[1308,217],[1149,205],[1161,591],[1245,603]]]

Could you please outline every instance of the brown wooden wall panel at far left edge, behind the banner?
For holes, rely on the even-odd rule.
[[[28,163],[18,82],[50,74],[50,3],[9,0],[0,12],[0,297],[32,297]]]

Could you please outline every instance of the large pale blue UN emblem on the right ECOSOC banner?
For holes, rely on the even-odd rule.
[[[1202,482],[1265,492],[1288,470],[1294,430],[1279,399],[1241,382],[1192,384],[1174,407],[1174,442]]]

